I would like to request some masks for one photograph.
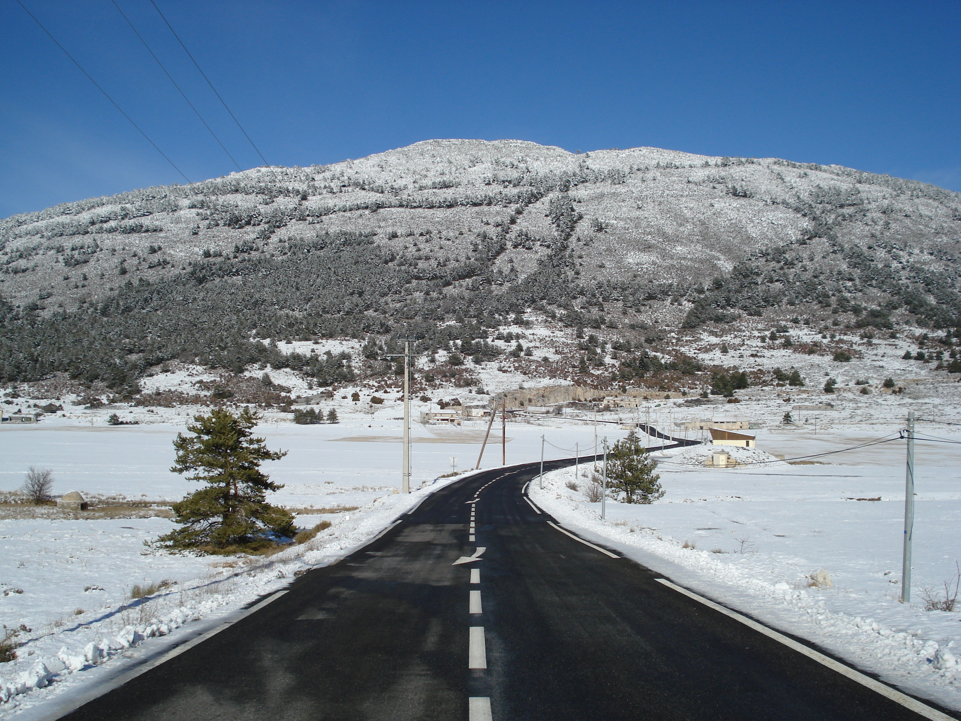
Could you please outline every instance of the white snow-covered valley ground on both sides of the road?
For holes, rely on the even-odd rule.
[[[750,342],[746,337],[743,350],[752,350]],[[705,338],[699,355],[707,361],[725,360],[718,345]],[[713,397],[707,405],[695,407],[676,397],[622,410],[620,416],[617,411],[598,416],[629,421],[646,420],[650,414],[655,426],[673,429],[678,435],[685,434],[678,430],[683,421],[746,416],[760,426],[752,431],[758,435],[757,458],[769,463],[711,470],[690,458],[705,454],[706,449],[687,451],[680,458],[658,454],[667,490],[664,498],[652,506],[608,503],[605,522],[598,518],[596,504],[588,504],[582,492],[564,485],[573,480],[573,470],[550,475],[545,490],[534,489],[532,494],[561,522],[607,539],[679,583],[809,638],[876,670],[893,684],[961,708],[957,681],[961,675],[958,666],[952,665],[954,647],[949,646],[961,631],[957,625],[961,614],[925,611],[922,596],[925,586],[940,587],[954,574],[954,561],[959,558],[958,446],[918,443],[910,606],[898,603],[899,584],[893,583],[900,575],[904,441],[807,459],[815,462],[802,464],[763,455],[797,459],[873,439],[897,438],[908,410],[930,419],[919,423],[920,434],[961,439],[955,427],[931,422],[958,420],[961,385],[949,383],[953,378],[943,373],[931,373],[929,365],[899,360],[901,352],[900,347],[865,348],[870,357],[827,367],[818,357],[766,350],[766,364],[799,367],[808,386],[752,387],[738,393],[741,402],[736,405]],[[818,387],[828,371],[839,381],[838,392],[831,396]],[[523,375],[507,378],[487,368],[480,374],[489,391],[520,383],[527,387],[548,383]],[[889,375],[905,387],[903,393],[880,391],[879,381]],[[295,394],[309,393],[308,386],[293,375],[279,371],[272,372],[272,377],[275,383],[292,387]],[[862,386],[854,385],[862,377],[870,379],[872,393],[862,394]],[[212,378],[185,366],[147,380],[157,387],[182,387],[187,392],[198,379]],[[362,400],[357,404],[349,400],[352,390],[341,389],[335,398],[320,404],[324,412],[337,411],[337,424],[298,426],[289,415],[270,411],[258,429],[270,448],[289,451],[283,460],[265,465],[272,479],[285,485],[271,502],[291,509],[332,511],[298,515],[298,525],[304,528],[324,519],[333,526],[310,543],[269,559],[154,551],[144,541],[173,528],[166,518],[87,520],[0,514],[0,593],[5,594],[0,595],[0,623],[11,630],[21,625],[29,629],[15,639],[23,644],[18,659],[0,664],[0,717],[42,708],[37,705],[62,699],[63,691],[72,693],[114,673],[111,669],[119,665],[155,653],[178,634],[195,633],[190,630],[283,586],[297,571],[341,557],[415,503],[424,491],[410,496],[395,493],[402,452],[397,394],[381,393],[385,403],[372,406],[369,398],[376,388],[358,386]],[[432,395],[434,399],[458,397],[472,404],[486,400],[470,391],[450,388]],[[28,407],[48,400],[53,399],[17,398],[16,404]],[[73,405],[74,400],[62,396],[57,402],[64,410],[45,416],[36,426],[0,429],[4,460],[0,491],[21,485],[31,465],[53,470],[57,494],[79,490],[86,496],[170,502],[196,487],[169,472],[174,460],[171,441],[185,430],[191,414],[205,409],[116,405],[86,410]],[[793,410],[795,405],[825,401],[833,404],[833,410]],[[414,417],[429,407],[414,403]],[[793,424],[782,422],[785,410],[793,410]],[[139,425],[111,427],[107,424],[111,412]],[[542,434],[547,459],[572,455],[569,449],[576,443],[582,454],[592,452],[593,425],[576,420],[572,415],[576,411],[567,413],[508,421],[507,463],[538,460]],[[487,447],[484,467],[501,462],[499,425]],[[458,471],[473,467],[485,427],[480,419],[461,427],[415,423],[412,485],[431,484],[449,472],[451,457],[456,457]],[[627,433],[616,423],[598,424],[600,439],[606,436],[614,442]],[[702,434],[690,431],[687,435]],[[875,498],[880,500],[848,500]],[[696,548],[682,548],[684,541]],[[821,568],[834,585],[808,586],[809,575]],[[160,582],[173,583],[152,600],[132,601],[134,584]]]

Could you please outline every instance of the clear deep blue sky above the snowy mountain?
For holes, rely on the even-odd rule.
[[[22,0],[192,181],[234,170],[111,0]],[[961,190],[957,2],[156,0],[267,162],[432,137],[839,163]],[[149,0],[117,0],[242,168]],[[183,182],[0,5],[0,216]]]

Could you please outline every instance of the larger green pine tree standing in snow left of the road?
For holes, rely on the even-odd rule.
[[[171,548],[215,552],[232,546],[257,550],[269,545],[268,532],[293,535],[293,516],[265,500],[266,491],[283,485],[272,483],[260,471],[260,463],[280,460],[286,451],[271,451],[263,438],[252,436],[259,414],[246,408],[238,415],[214,409],[193,419],[186,427],[193,435],[178,434],[174,439],[177,461],[170,470],[192,471],[187,480],[202,481],[207,487],[174,504],[176,521],[183,528],[160,536],[160,541]]]

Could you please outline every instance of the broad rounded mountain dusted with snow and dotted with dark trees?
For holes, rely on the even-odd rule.
[[[784,309],[954,326],[959,236],[961,194],[836,165],[428,140],[0,221],[0,365],[103,377],[226,362],[251,337],[430,336],[530,310],[596,328]]]

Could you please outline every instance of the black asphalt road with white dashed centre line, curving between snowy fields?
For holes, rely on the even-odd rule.
[[[524,493],[538,467],[439,489],[65,718],[955,717],[566,532]]]

